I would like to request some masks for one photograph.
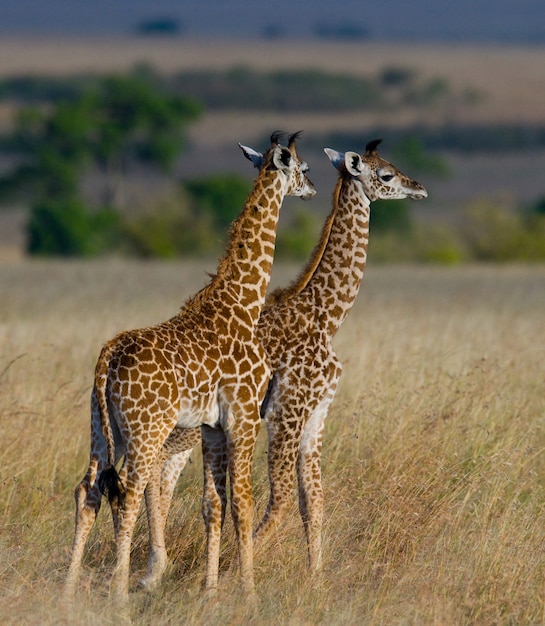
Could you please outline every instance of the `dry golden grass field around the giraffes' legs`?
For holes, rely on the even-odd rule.
[[[206,269],[212,270],[214,263]],[[0,273],[0,622],[109,624],[103,512],[81,602],[59,596],[88,452],[101,343],[174,313],[202,264],[4,264]],[[284,282],[293,268],[277,268]],[[169,519],[163,589],[135,624],[530,624],[544,619],[545,269],[374,268],[342,328],[324,446],[325,568],[306,576],[294,507],[256,555],[257,614],[236,594],[230,520],[217,605],[202,602],[198,454]],[[264,432],[255,466],[266,501]],[[145,520],[133,582],[145,568]]]

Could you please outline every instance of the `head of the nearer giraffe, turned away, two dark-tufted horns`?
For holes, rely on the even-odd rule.
[[[254,166],[262,170],[264,168],[283,171],[287,176],[286,195],[297,196],[303,200],[310,200],[316,194],[313,183],[308,178],[309,167],[297,154],[296,140],[301,131],[290,135],[287,148],[280,145],[279,139],[283,133],[276,131],[271,135],[271,146],[262,154],[253,148],[238,144]]]

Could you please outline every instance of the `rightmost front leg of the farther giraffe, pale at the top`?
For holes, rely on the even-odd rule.
[[[299,484],[299,512],[307,536],[309,568],[317,572],[322,567],[322,519],[324,495],[322,489],[321,454],[324,422],[333,401],[337,381],[313,411],[303,430],[297,479]]]

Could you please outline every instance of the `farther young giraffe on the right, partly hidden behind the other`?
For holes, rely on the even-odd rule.
[[[379,144],[380,140],[369,142],[361,155],[325,149],[339,171],[331,213],[303,271],[290,286],[268,296],[257,326],[272,377],[261,407],[269,438],[270,497],[256,537],[265,539],[279,525],[297,474],[312,572],[318,571],[322,562],[322,434],[341,375],[331,340],[352,307],[363,277],[370,203],[379,198],[427,197],[420,183],[380,157]],[[160,477],[161,507],[148,507],[151,517],[157,516],[160,508],[163,525],[175,482],[185,465],[182,455],[191,445],[189,431],[180,429],[167,440]],[[164,542],[163,534],[160,540]],[[153,534],[150,547],[148,573],[141,582],[152,586],[161,578],[166,552],[161,557],[151,556],[155,553]]]

